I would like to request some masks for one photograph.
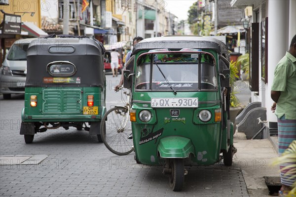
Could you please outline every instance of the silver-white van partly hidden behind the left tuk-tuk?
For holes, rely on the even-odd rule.
[[[11,94],[25,93],[27,49],[33,39],[19,39],[10,47],[0,68],[0,93],[4,99]]]

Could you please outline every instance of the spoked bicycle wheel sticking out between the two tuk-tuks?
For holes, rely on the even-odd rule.
[[[131,132],[130,115],[125,107],[114,107],[102,118],[102,140],[106,147],[116,155],[127,155],[133,151],[133,140],[127,139]]]

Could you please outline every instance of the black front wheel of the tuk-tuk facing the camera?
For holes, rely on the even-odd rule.
[[[169,161],[169,174],[170,188],[175,191],[181,191],[184,184],[184,160],[182,158],[171,158]]]

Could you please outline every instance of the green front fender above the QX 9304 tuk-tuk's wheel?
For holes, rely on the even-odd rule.
[[[160,139],[157,151],[161,158],[188,158],[195,149],[190,139],[181,136],[169,136]]]

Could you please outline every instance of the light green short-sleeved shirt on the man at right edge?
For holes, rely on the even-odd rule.
[[[286,119],[296,119],[296,57],[286,52],[274,71],[271,86],[273,91],[281,91],[276,104],[275,115]]]

